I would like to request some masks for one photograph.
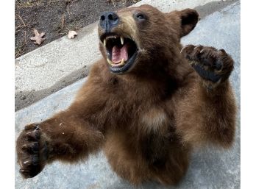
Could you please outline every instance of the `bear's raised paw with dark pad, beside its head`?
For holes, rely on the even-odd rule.
[[[202,84],[209,91],[224,83],[234,69],[234,61],[224,49],[188,45],[182,48],[181,53],[201,76]]]

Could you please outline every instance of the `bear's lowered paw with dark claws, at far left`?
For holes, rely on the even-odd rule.
[[[48,145],[42,139],[42,132],[38,124],[29,124],[17,139],[18,164],[24,178],[32,178],[43,170],[49,157]]]

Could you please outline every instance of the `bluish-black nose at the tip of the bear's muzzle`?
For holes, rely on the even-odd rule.
[[[118,22],[119,17],[113,12],[104,12],[99,19],[99,24],[105,32],[110,32],[113,27],[118,25]]]

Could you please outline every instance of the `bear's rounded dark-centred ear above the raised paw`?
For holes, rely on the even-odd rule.
[[[185,9],[181,11],[171,12],[171,15],[178,17],[179,24],[181,26],[180,38],[185,35],[188,35],[196,26],[199,21],[199,13],[193,9]]]

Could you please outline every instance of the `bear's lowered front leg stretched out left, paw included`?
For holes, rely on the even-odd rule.
[[[31,178],[53,160],[69,163],[81,160],[98,150],[103,141],[102,131],[74,110],[66,110],[39,124],[29,124],[16,143],[20,173]]]

